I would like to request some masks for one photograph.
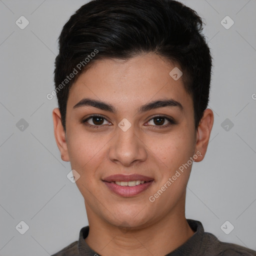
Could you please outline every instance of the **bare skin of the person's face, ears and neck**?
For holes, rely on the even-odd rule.
[[[191,164],[155,201],[148,199],[197,151],[201,155],[194,160],[203,159],[213,125],[213,112],[207,108],[194,128],[192,98],[182,76],[175,81],[169,75],[174,67],[154,53],[125,61],[97,60],[70,89],[66,131],[59,109],[52,112],[61,158],[80,174],[76,185],[84,197],[90,227],[85,241],[103,256],[165,255],[194,233],[185,219]],[[117,112],[93,106],[73,108],[84,97],[110,103]],[[183,110],[168,106],[137,113],[141,105],[167,98],[180,102]],[[82,123],[93,114],[105,118],[98,129]],[[163,119],[159,125],[152,119],[159,115],[172,117],[176,124]],[[123,118],[131,123],[126,131],[118,126]],[[95,126],[98,122],[87,120]],[[135,196],[122,197],[102,182],[117,173],[142,174],[154,182]]]

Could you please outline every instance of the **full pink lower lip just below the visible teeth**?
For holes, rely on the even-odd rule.
[[[135,186],[121,186],[115,183],[103,181],[106,186],[113,191],[114,193],[121,195],[123,197],[130,197],[147,189],[153,181],[144,182],[143,184],[135,185]]]

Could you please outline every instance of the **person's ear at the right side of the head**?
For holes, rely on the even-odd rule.
[[[197,127],[196,132],[196,144],[194,153],[198,155],[195,162],[199,162],[204,158],[207,150],[211,128],[213,125],[213,112],[211,109],[206,108],[203,112],[203,116]]]

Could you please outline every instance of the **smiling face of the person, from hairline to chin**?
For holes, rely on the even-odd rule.
[[[182,76],[169,75],[174,67],[153,53],[98,60],[69,91],[65,133],[54,109],[57,144],[80,175],[88,220],[139,227],[184,211],[191,159],[206,148]]]

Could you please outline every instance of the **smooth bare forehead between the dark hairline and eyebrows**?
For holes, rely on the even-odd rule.
[[[174,63],[154,53],[127,60],[96,60],[72,85],[68,104],[73,106],[83,97],[90,97],[111,102],[117,108],[127,108],[159,98],[172,98],[191,107],[192,99],[184,89],[182,76],[173,79],[173,68],[175,72],[180,70]]]

